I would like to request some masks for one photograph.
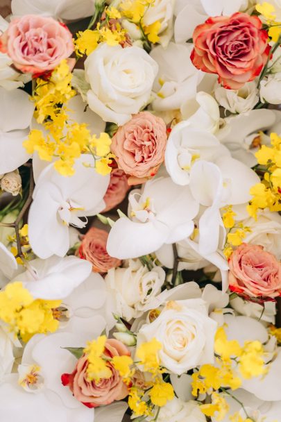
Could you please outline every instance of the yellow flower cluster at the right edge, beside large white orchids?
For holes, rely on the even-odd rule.
[[[271,133],[271,145],[262,145],[255,153],[257,162],[262,166],[264,176],[261,183],[250,189],[253,195],[247,210],[257,219],[257,210],[281,211],[281,137]]]

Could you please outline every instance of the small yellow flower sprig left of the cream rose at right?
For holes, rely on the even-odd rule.
[[[223,253],[226,258],[230,258],[233,252],[233,246],[239,246],[242,244],[246,237],[246,234],[251,230],[249,227],[244,226],[243,223],[236,223],[236,213],[232,210],[232,205],[222,209],[223,211],[223,225],[229,229],[226,242],[224,245]]]

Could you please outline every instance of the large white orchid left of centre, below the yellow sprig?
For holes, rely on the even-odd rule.
[[[28,214],[28,236],[34,253],[40,258],[65,256],[69,249],[69,226],[85,227],[87,219],[105,208],[103,196],[110,176],[101,176],[83,162],[94,165],[92,155],[82,155],[71,178],[61,176],[49,164],[40,174]],[[53,234],[56,233],[56,240]],[[44,239],[44,242],[42,242]]]

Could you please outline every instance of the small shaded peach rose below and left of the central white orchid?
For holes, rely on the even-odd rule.
[[[121,261],[112,258],[106,251],[108,242],[108,233],[105,230],[92,227],[83,237],[78,256],[91,262],[93,271],[98,273],[107,273],[109,269],[121,265]]]

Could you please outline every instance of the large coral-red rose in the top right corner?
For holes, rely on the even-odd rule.
[[[194,66],[219,75],[219,82],[231,90],[260,74],[271,49],[260,19],[239,12],[230,17],[209,17],[195,28],[193,40]]]

